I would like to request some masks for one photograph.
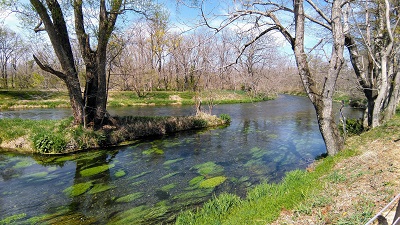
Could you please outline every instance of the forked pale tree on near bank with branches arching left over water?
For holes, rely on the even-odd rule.
[[[307,0],[306,2],[318,17],[312,17],[305,13],[304,0],[294,0],[291,6],[271,1],[235,1],[232,4],[234,8],[228,9],[229,13],[221,25],[213,27],[206,16],[207,13],[203,9],[202,4],[200,5],[200,10],[205,19],[205,25],[213,28],[216,32],[242,21],[251,25],[246,30],[253,34],[254,38],[244,44],[242,53],[249,46],[255,44],[258,39],[267,34],[278,31],[283,35],[292,47],[304,89],[315,107],[319,128],[325,141],[327,152],[330,155],[334,155],[341,150],[344,142],[335,123],[332,99],[336,81],[344,62],[344,33],[341,18],[342,7],[345,5],[345,1],[334,0],[328,3],[328,14],[325,14],[311,0]],[[289,21],[289,24],[284,25],[283,22],[287,18],[287,13],[291,13],[293,20]],[[332,49],[329,54],[329,66],[322,86],[318,86],[315,82],[316,75],[312,73],[308,64],[309,61],[304,44],[305,36],[306,32],[310,34],[314,30],[305,29],[306,20],[328,30],[331,37]],[[293,21],[294,25],[291,26]]]

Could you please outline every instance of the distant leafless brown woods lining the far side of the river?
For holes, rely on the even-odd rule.
[[[241,53],[251,37],[234,30],[215,34],[202,28],[179,33],[164,13],[156,19],[137,19],[114,32],[108,45],[108,89],[133,91],[138,97],[157,90],[242,90],[252,97],[304,92],[293,56],[273,37],[260,39]],[[58,68],[51,45],[43,35],[24,37],[12,28],[0,28],[1,89],[65,90],[64,83],[41,70],[32,55]],[[73,46],[77,71],[84,80],[84,63],[76,40]],[[240,57],[239,57],[240,55]],[[320,55],[310,57],[313,71],[326,71]],[[317,73],[318,74],[318,73]],[[84,83],[84,82],[82,82]],[[340,95],[362,98],[351,65],[338,80]]]

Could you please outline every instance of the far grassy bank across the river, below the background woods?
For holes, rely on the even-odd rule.
[[[138,97],[132,91],[111,91],[108,106],[124,107],[134,105],[194,105],[194,92],[153,91]],[[203,104],[211,100],[214,104],[256,102],[270,97],[251,97],[244,91],[210,91],[200,93]],[[66,108],[69,106],[68,94],[64,91],[0,91],[0,109],[25,108]]]

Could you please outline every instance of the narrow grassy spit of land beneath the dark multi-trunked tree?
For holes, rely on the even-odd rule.
[[[0,148],[24,153],[65,154],[86,149],[120,146],[140,138],[223,126],[229,115],[220,117],[199,113],[196,116],[114,117],[115,125],[102,129],[71,126],[63,120],[0,119]]]

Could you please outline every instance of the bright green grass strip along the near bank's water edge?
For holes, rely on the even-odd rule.
[[[319,179],[330,173],[337,161],[356,154],[342,151],[334,157],[319,162],[312,172],[289,172],[278,184],[260,184],[251,189],[245,199],[231,194],[220,195],[197,211],[186,211],[178,216],[176,224],[267,224],[277,219],[281,209],[294,209],[322,191]],[[332,178],[341,180],[340,178]],[[319,199],[315,204],[327,204],[329,199]],[[211,207],[212,206],[212,207]],[[302,210],[310,211],[309,205]]]

